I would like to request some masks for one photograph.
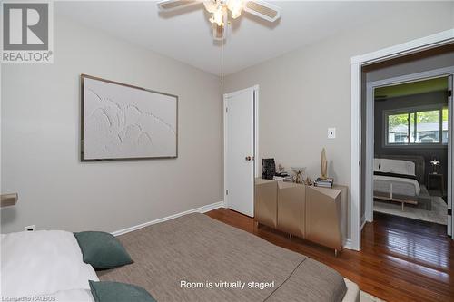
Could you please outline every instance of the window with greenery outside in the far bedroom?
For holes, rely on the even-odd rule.
[[[448,143],[448,108],[412,108],[385,112],[387,145]]]

